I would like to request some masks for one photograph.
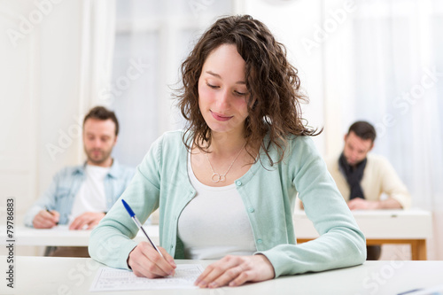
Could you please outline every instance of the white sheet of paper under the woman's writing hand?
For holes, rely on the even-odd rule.
[[[174,276],[149,279],[125,269],[99,268],[89,291],[196,289],[194,282],[202,272],[200,264],[177,264]]]

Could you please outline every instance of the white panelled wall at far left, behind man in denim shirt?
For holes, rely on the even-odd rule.
[[[52,175],[81,154],[77,136],[69,136],[78,130],[81,7],[4,1],[0,15],[0,207],[16,198],[21,221]],[[53,157],[48,144],[59,149]]]

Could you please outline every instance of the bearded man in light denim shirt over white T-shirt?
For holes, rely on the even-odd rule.
[[[25,224],[35,229],[51,229],[57,224],[69,224],[69,229],[95,227],[135,172],[111,158],[118,133],[115,113],[103,106],[91,109],[83,120],[86,163],[59,171],[50,188],[28,210]]]

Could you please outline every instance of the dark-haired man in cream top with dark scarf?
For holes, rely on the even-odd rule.
[[[351,210],[406,209],[411,202],[408,189],[385,158],[369,153],[376,136],[369,122],[351,125],[342,153],[327,160],[330,175]],[[368,247],[368,260],[378,260],[380,253],[380,246]]]

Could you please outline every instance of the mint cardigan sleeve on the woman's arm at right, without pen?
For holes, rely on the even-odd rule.
[[[267,256],[276,277],[346,268],[366,260],[365,237],[346,206],[311,139],[292,141],[292,183],[299,192],[307,217],[320,237],[300,245],[276,245],[258,252]]]

